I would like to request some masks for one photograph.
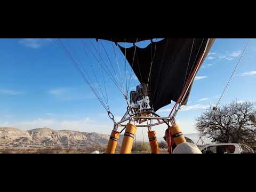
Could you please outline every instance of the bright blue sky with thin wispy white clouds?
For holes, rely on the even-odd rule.
[[[207,106],[214,105],[218,101],[247,41],[248,39],[215,41],[197,74],[188,106],[179,111],[177,122],[183,132],[196,132],[193,127],[194,119]],[[108,51],[107,57],[101,43],[96,43],[94,39],[86,39],[85,43],[82,43],[81,39],[61,39],[61,42],[69,49],[72,57],[82,63],[100,94],[99,87],[105,94],[101,67],[90,54],[87,45],[91,45],[92,51],[92,44],[99,49],[102,59],[111,73],[115,74],[111,69],[109,57],[120,79],[111,43],[103,42],[103,46]],[[142,42],[138,46],[145,47],[148,43]],[[127,46],[131,45],[127,44]],[[131,68],[126,63],[126,71],[129,72],[125,73],[125,60],[116,47],[115,51],[124,84],[125,74],[129,82]],[[86,52],[89,54],[87,55]],[[255,101],[255,53],[256,40],[252,39],[221,103],[236,99]],[[17,127],[26,130],[51,127],[55,130],[68,129],[108,134],[111,132],[113,123],[105,109],[56,39],[0,39],[0,55],[0,127]],[[91,65],[98,82],[93,75]],[[125,100],[105,71],[103,74],[109,107],[118,120],[125,111]],[[130,88],[133,88],[138,84],[138,80],[133,73],[131,77]],[[162,108],[158,114],[168,115],[171,107],[172,105]],[[165,126],[155,128],[160,137],[165,129]],[[143,133],[146,138],[146,130]],[[141,129],[138,129],[138,139],[142,139]]]

